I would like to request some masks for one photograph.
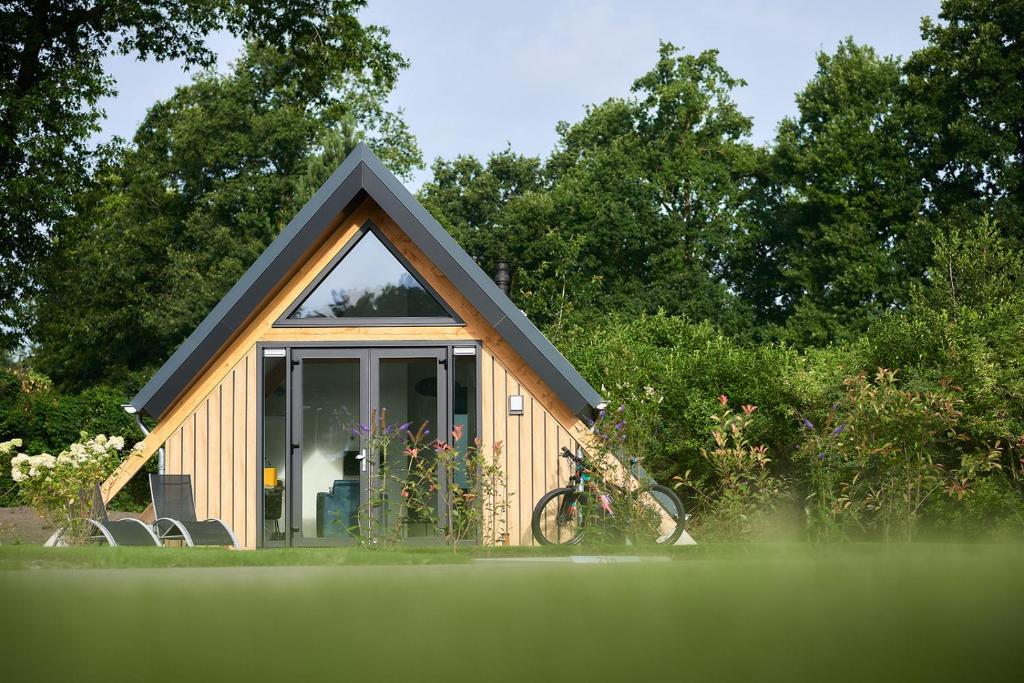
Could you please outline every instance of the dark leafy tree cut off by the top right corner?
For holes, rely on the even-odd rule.
[[[989,213],[1024,245],[1024,2],[943,0],[906,66],[911,156],[929,209],[951,224]]]

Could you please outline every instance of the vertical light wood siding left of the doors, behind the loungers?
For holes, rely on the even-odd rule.
[[[218,517],[243,548],[256,547],[256,347],[164,442],[168,474],[188,474],[200,519]]]

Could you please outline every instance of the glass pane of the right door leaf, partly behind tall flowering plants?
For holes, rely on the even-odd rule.
[[[387,425],[400,426],[410,423],[410,429],[416,431],[423,423],[427,423],[430,434],[426,440],[438,438],[437,421],[437,358],[381,358],[380,361],[380,410],[383,422]],[[440,435],[443,438],[443,434]],[[397,524],[404,527],[408,537],[426,537],[434,535],[434,521],[429,514],[422,511],[408,510],[402,505],[401,490],[413,473],[410,472],[409,457],[404,454],[406,439],[398,438],[390,442],[387,454],[381,458],[381,471],[386,468],[384,485],[386,486],[387,510],[385,523],[387,528],[396,528]],[[379,454],[381,455],[381,454]],[[421,462],[433,463],[434,452],[424,449],[418,458]],[[428,496],[426,505],[437,509],[436,494]]]

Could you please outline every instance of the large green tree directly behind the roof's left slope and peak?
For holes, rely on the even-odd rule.
[[[309,38],[336,45],[316,78],[302,48],[250,43],[229,73],[156,103],[132,144],[102,151],[40,270],[34,361],[57,386],[133,384],[162,362],[354,139],[399,172],[419,162],[383,108],[403,60],[377,34],[341,30]]]

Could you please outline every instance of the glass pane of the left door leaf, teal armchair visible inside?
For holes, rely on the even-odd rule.
[[[355,535],[359,508],[359,359],[302,361],[302,536]]]

